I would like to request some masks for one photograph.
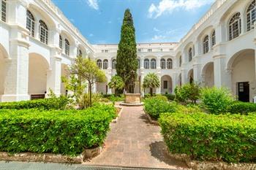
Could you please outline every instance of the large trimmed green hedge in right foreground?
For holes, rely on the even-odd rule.
[[[170,152],[209,161],[256,162],[256,115],[162,114]]]

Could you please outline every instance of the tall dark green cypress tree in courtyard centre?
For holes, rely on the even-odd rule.
[[[137,68],[135,27],[133,26],[132,14],[129,9],[126,9],[123,25],[121,26],[121,39],[118,44],[116,73],[124,80],[125,90],[129,93],[134,91]],[[132,85],[133,88],[129,89],[129,85]]]

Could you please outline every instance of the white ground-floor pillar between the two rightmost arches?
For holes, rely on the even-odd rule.
[[[225,55],[214,56],[214,85],[218,88],[223,86],[231,90],[232,69],[226,69],[225,63]]]

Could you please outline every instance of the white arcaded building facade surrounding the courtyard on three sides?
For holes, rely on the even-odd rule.
[[[91,45],[50,0],[0,0],[0,7],[0,101],[41,98],[49,89],[67,93],[61,76],[68,76],[77,55],[94,59],[108,82],[116,74],[118,45]],[[194,80],[252,101],[255,20],[255,0],[217,0],[180,42],[138,44],[135,93],[144,91],[143,77],[155,72],[161,87],[154,93],[173,93]],[[95,90],[113,93],[108,82]]]

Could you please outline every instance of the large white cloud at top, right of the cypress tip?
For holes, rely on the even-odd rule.
[[[173,12],[175,9],[185,9],[187,11],[211,4],[214,0],[161,0],[159,4],[151,4],[148,9],[149,18],[158,18],[165,12]]]

